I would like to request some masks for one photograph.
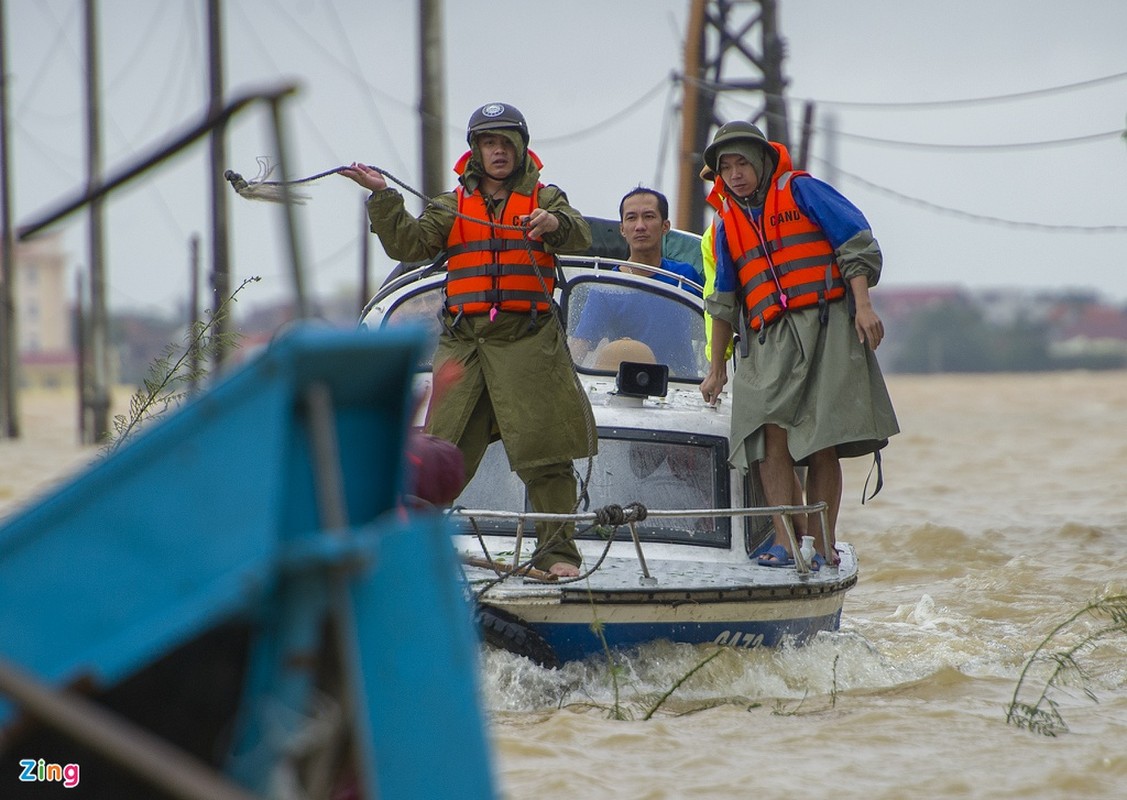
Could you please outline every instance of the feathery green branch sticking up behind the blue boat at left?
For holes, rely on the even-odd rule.
[[[145,423],[180,406],[190,388],[207,375],[204,364],[219,353],[238,346],[240,335],[221,331],[220,322],[230,315],[231,304],[237,302],[239,292],[260,279],[257,276],[246,278],[214,313],[206,312],[206,319],[193,322],[183,348],[177,345],[165,347],[162,355],[149,365],[141,388],[130,398],[128,415],[114,417],[115,436],[106,446],[107,453],[121,447]]]

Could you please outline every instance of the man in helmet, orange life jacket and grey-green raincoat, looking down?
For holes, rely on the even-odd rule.
[[[800,501],[795,466],[806,465],[807,501],[841,506],[838,459],[875,453],[898,433],[873,350],[884,338],[869,287],[880,248],[864,215],[833,187],[791,165],[787,148],[747,122],[721,126],[704,150],[715,286],[711,367],[701,394],[715,403],[728,382],[734,330],[740,354],[733,385],[731,463],[758,462],[767,503]],[[878,481],[879,485],[879,481]],[[820,525],[808,532],[820,549]],[[777,531],[780,530],[777,522]],[[824,553],[836,562],[834,552]],[[793,563],[780,541],[764,566]],[[819,562],[820,562],[819,557]]]

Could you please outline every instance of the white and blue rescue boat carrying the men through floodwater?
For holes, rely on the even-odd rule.
[[[533,513],[495,442],[447,512],[485,640],[556,666],[659,639],[769,648],[836,630],[858,580],[855,551],[838,541],[837,563],[804,558],[792,521],[824,515],[824,504],[767,506],[756,471],[729,468],[730,397],[709,406],[699,389],[708,368],[701,286],[623,269],[631,264],[618,223],[588,221],[595,242],[560,257],[554,291],[598,436],[598,454],[575,463],[584,503],[570,515]],[[671,231],[664,248],[701,268],[699,237]],[[421,326],[436,340],[444,267],[441,256],[397,267],[361,326]],[[660,320],[660,335],[650,326],[622,336],[632,314]],[[428,357],[418,370],[425,390]],[[773,516],[796,553],[787,567],[758,562],[775,539]],[[543,519],[576,523],[579,578],[531,567]]]

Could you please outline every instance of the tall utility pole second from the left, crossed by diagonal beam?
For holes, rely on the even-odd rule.
[[[86,179],[87,192],[101,181],[100,79],[98,70],[97,0],[86,0]],[[95,442],[109,437],[109,312],[106,303],[105,199],[90,199],[88,249],[90,257],[90,392],[91,433]]]

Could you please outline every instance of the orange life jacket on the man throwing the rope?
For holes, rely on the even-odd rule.
[[[502,220],[489,214],[480,190],[468,194],[458,187],[458,212],[481,222],[456,216],[446,238],[446,308],[452,314],[535,314],[551,308],[556,258],[544,250],[543,242],[531,241],[518,230],[496,226],[520,225],[521,217],[536,208],[540,186],[532,195],[511,193]]]

